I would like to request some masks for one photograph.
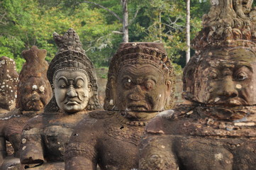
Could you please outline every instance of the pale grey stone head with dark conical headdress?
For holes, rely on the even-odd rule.
[[[99,108],[94,65],[82,49],[79,36],[69,28],[63,36],[53,33],[59,50],[48,69],[54,96],[45,112],[79,111]]]

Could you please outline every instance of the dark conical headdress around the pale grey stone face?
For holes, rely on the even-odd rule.
[[[100,104],[97,93],[98,85],[96,83],[94,65],[91,63],[91,60],[89,60],[87,55],[85,55],[79,36],[72,28],[69,28],[67,33],[63,36],[53,33],[53,38],[59,49],[49,65],[47,76],[50,84],[53,84],[55,74],[61,70],[71,69],[74,71],[84,72],[89,79],[89,84],[91,84],[94,93],[89,99],[87,109],[94,110],[99,108]],[[52,98],[49,105],[50,106],[45,107],[45,112],[59,111],[55,97]]]

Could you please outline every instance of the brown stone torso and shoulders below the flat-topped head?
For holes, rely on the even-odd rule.
[[[74,130],[67,159],[82,154],[92,162],[97,162],[102,170],[137,169],[138,145],[145,124],[129,122],[123,118],[121,112],[89,113],[89,116],[79,123],[77,130]],[[88,133],[91,133],[91,136],[85,139],[84,136]],[[74,148],[83,152],[76,152]]]

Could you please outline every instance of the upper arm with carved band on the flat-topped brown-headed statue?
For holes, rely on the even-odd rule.
[[[96,170],[97,139],[101,132],[88,121],[82,120],[69,139],[65,152],[66,170]]]

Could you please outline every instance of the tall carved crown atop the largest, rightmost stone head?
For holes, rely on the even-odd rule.
[[[256,43],[256,8],[253,0],[211,0],[203,16],[203,28],[192,41],[196,50],[204,47],[253,47]]]

